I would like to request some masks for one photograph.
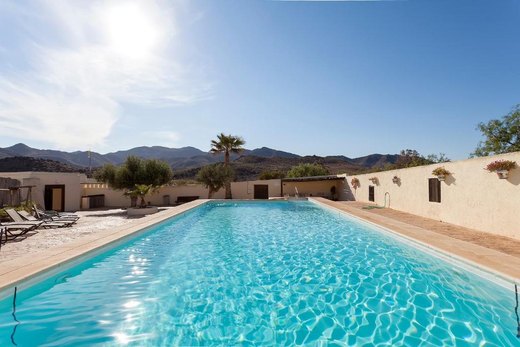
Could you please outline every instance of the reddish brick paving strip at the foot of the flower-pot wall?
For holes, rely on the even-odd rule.
[[[376,206],[366,202],[358,201],[338,201],[349,207],[361,209],[366,206]],[[493,249],[505,254],[514,255],[520,258],[520,240],[511,239],[505,236],[493,235],[478,230],[464,228],[462,226],[453,225],[445,222],[435,221],[414,214],[396,211],[392,209],[372,209],[363,210],[374,214],[379,214],[387,218],[404,222],[406,224],[431,230],[442,235],[450,236],[462,241],[474,243],[475,245]]]

